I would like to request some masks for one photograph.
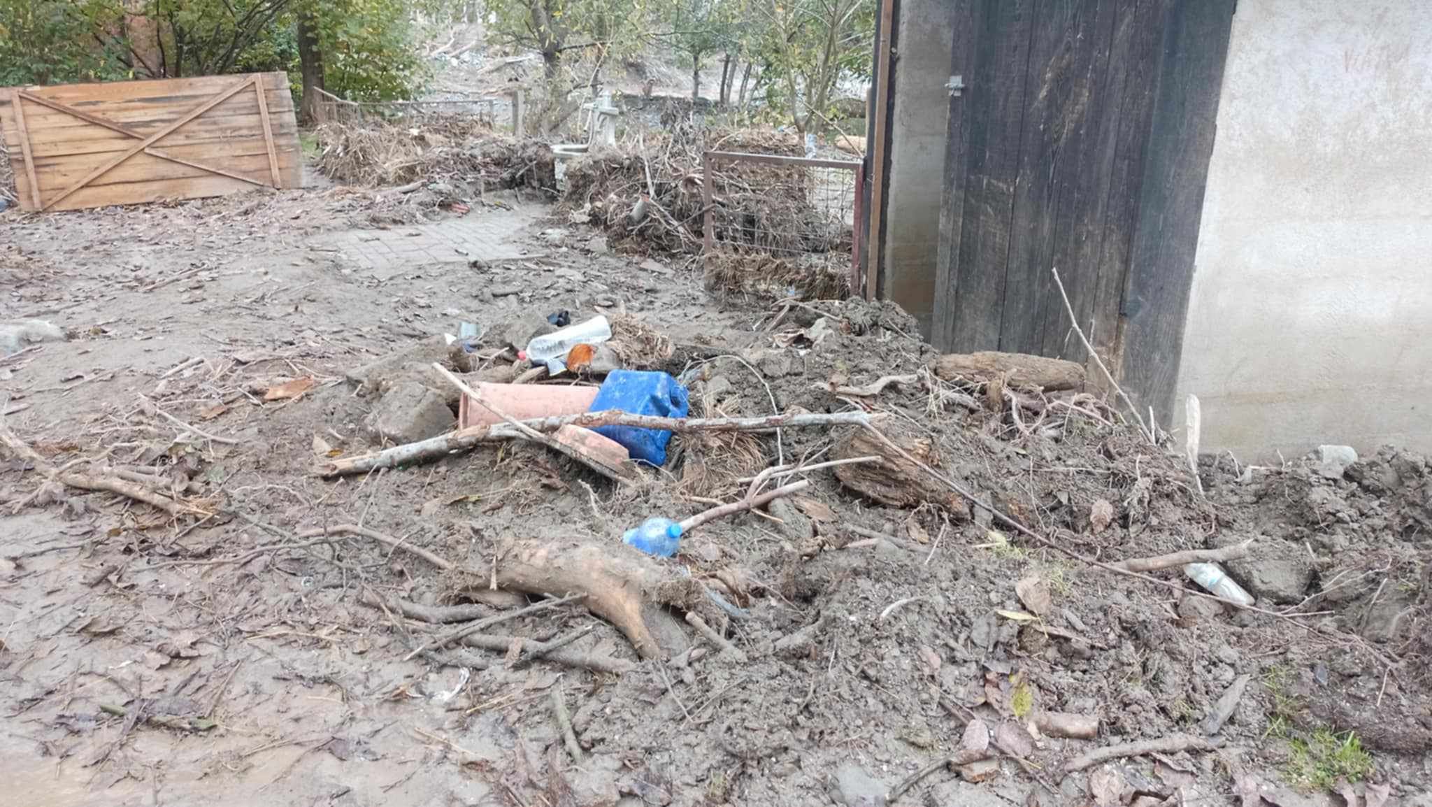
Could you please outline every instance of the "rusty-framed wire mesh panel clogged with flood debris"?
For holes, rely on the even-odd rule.
[[[862,163],[715,151],[703,158],[709,265],[763,272],[775,282],[826,275],[839,278],[841,295],[848,292],[859,249]],[[760,257],[773,261],[750,259]],[[818,285],[831,292],[829,282]]]

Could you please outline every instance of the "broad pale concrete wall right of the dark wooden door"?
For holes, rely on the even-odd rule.
[[[1432,452],[1428,43],[1425,0],[1239,1],[1179,384],[1204,452]]]

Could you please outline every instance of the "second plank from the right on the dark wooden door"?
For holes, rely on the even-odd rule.
[[[1098,278],[1088,312],[1090,341],[1120,371],[1128,248],[1138,218],[1138,183],[1153,120],[1163,19],[1173,0],[1123,0],[1108,60],[1110,106],[1116,123],[1108,158],[1108,199],[1098,237]],[[1103,383],[1095,376],[1095,381]]]

